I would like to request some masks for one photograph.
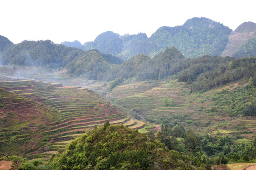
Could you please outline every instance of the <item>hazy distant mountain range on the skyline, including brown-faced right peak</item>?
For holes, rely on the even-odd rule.
[[[124,61],[144,53],[153,57],[166,47],[174,46],[186,58],[222,55],[247,57],[256,55],[256,24],[245,22],[232,31],[227,26],[205,17],[188,19],[182,26],[162,26],[151,37],[144,33],[119,35],[111,31],[98,35],[93,42],[63,42],[84,50],[97,49]]]

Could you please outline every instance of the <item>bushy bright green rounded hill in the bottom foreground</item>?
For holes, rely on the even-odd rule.
[[[158,139],[119,126],[95,127],[53,159],[51,170],[193,170],[191,158],[170,151]]]

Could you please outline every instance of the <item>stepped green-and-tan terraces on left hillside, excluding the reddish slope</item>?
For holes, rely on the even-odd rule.
[[[44,110],[51,110],[59,117],[54,122],[48,122],[47,126],[37,127],[35,133],[38,137],[40,136],[39,139],[34,136],[30,140],[40,142],[42,147],[30,153],[32,157],[60,152],[65,148],[66,143],[84,133],[86,129],[103,125],[106,121],[109,121],[110,124],[123,123],[131,128],[146,128],[145,123],[126,116],[99,94],[87,88],[63,86],[58,83],[43,83],[42,81],[8,76],[0,76],[0,88],[19,96],[15,102],[3,99],[2,104],[6,108],[11,106],[18,109],[17,113],[22,112],[23,115],[29,115],[23,109],[35,105],[44,107]],[[29,112],[29,110],[26,111]],[[9,114],[8,111],[7,114]],[[25,121],[25,118],[22,119]],[[17,126],[15,122],[13,125]],[[15,134],[19,134],[19,126],[20,124],[17,126],[17,131],[14,130],[14,127],[10,127],[7,132],[1,133],[6,134],[9,133],[9,130],[14,130]],[[33,126],[37,125],[33,124]],[[2,136],[5,136],[5,134]],[[19,137],[16,135],[15,137],[16,139],[24,139],[28,135]],[[11,136],[9,138],[4,137],[0,142],[8,142],[10,138]]]

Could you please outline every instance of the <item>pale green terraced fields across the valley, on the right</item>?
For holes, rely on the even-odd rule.
[[[233,90],[236,85],[234,83],[199,94],[190,93],[188,85],[176,81],[162,84],[159,81],[127,81],[107,93],[106,97],[126,108],[133,117],[150,123],[180,124],[203,134],[230,134],[252,139],[256,136],[256,118],[229,117],[228,114],[214,111],[216,106],[211,101],[216,91],[229,86]],[[172,98],[172,105],[163,105],[164,96],[168,97],[168,103]],[[218,110],[221,107],[224,106],[218,106]]]

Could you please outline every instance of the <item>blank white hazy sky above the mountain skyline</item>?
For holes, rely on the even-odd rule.
[[[105,31],[146,33],[207,17],[235,30],[256,23],[255,0],[0,0],[0,35],[14,43],[94,41]]]

